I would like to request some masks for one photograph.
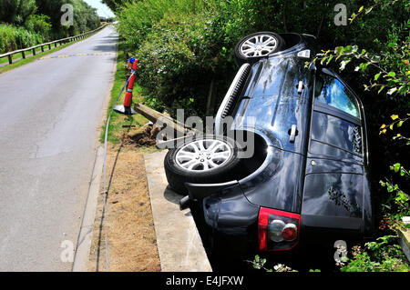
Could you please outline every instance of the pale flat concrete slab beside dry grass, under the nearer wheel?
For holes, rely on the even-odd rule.
[[[167,151],[144,155],[149,199],[162,272],[211,272],[210,262],[190,209],[179,210],[180,195],[168,188]]]

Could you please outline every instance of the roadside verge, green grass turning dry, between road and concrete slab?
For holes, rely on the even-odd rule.
[[[126,55],[122,44],[118,45],[117,72],[108,105],[111,108],[126,84]],[[142,88],[134,85],[134,100],[143,100]],[[118,99],[124,101],[125,91]],[[154,146],[139,147],[126,142],[124,136],[130,125],[139,128],[149,121],[142,115],[113,113],[108,126],[107,180],[108,199],[103,215],[104,195],[98,196],[97,215],[93,227],[89,271],[104,271],[106,267],[105,232],[108,232],[109,271],[158,272],[160,271],[157,237],[149,201],[149,189],[145,172],[144,153],[158,151]],[[101,132],[100,142],[105,141],[107,120]],[[101,182],[101,185],[103,183]],[[100,192],[103,192],[101,188]]]

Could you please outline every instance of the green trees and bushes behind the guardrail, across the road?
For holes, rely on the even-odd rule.
[[[61,25],[64,4],[73,5],[74,25]],[[96,29],[97,9],[83,0],[0,1],[0,53]]]

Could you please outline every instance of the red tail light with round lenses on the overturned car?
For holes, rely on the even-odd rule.
[[[260,251],[292,249],[299,240],[301,215],[261,207],[258,222]]]

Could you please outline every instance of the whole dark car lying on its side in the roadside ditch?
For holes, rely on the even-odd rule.
[[[303,253],[372,235],[364,106],[332,70],[306,65],[314,40],[244,37],[215,135],[185,140],[165,158],[170,187],[187,195],[181,206],[197,215],[214,253]],[[241,158],[228,131],[254,134],[251,157]]]

